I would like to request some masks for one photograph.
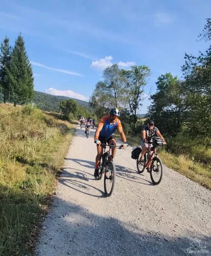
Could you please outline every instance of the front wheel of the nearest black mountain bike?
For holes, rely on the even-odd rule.
[[[108,162],[107,171],[104,175],[104,191],[106,196],[110,196],[115,187],[116,169],[113,161]]]

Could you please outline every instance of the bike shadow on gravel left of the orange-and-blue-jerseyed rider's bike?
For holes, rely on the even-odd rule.
[[[59,183],[85,195],[90,195],[92,197],[97,197],[97,198],[106,198],[106,195],[102,190],[88,184],[87,182],[86,183],[83,182],[83,181],[89,181],[94,179],[88,179],[85,174],[81,173],[81,171],[71,173],[71,172],[68,172],[66,169],[72,169],[72,168],[61,168]],[[98,192],[101,193],[101,195],[91,194],[90,192],[88,192],[91,189],[97,190]]]

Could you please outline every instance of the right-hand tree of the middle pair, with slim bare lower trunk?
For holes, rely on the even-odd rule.
[[[132,66],[131,70],[121,70],[121,81],[124,84],[124,93],[127,99],[129,110],[133,116],[134,128],[137,127],[137,110],[146,98],[144,88],[150,76],[150,69],[147,66]],[[147,96],[148,97],[148,96]]]

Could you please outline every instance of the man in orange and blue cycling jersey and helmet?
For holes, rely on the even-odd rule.
[[[95,170],[94,170],[94,177],[97,178],[99,174],[99,167],[100,167],[100,159],[103,154],[103,147],[100,146],[100,143],[108,143],[116,145],[115,137],[112,134],[118,130],[121,139],[123,140],[123,147],[126,148],[128,146],[125,134],[123,131],[122,124],[120,119],[120,111],[118,108],[111,108],[110,114],[108,116],[103,116],[100,119],[100,122],[97,125],[97,129],[94,134],[94,142],[97,143],[97,156],[95,162]],[[111,151],[113,160],[116,154],[116,148],[112,148]]]

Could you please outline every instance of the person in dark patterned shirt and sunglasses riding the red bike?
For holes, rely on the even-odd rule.
[[[144,161],[144,154],[148,150],[148,142],[151,140],[152,137],[154,136],[160,137],[163,140],[163,144],[166,144],[163,136],[161,135],[160,131],[158,130],[157,127],[154,126],[154,121],[149,120],[147,125],[144,125],[142,127],[141,131],[141,146],[142,146],[142,151],[141,151],[141,156],[140,156],[140,161]],[[150,151],[149,154],[152,154],[153,151]],[[150,171],[150,166],[151,163],[149,164],[147,171]]]

